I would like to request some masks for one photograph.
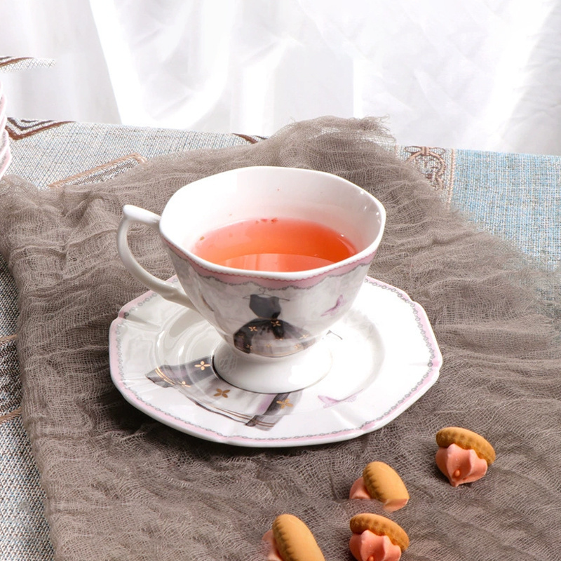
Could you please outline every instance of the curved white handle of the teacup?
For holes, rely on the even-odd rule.
[[[121,218],[121,224],[119,224],[119,229],[117,230],[117,252],[121,261],[126,266],[128,272],[133,275],[136,280],[142,283],[144,286],[150,290],[154,290],[161,297],[170,302],[175,302],[176,304],[182,304],[187,306],[187,308],[196,309],[193,302],[187,297],[185,292],[179,286],[173,286],[170,283],[166,283],[165,280],[161,280],[149,273],[139,262],[135,259],[133,253],[130,251],[128,245],[128,228],[133,222],[141,222],[147,226],[154,229],[158,236],[160,234],[160,216],[156,215],[154,212],[149,210],[144,210],[144,208],[137,207],[135,205],[125,205],[123,207],[123,217]]]

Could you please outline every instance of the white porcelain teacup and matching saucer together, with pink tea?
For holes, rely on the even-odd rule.
[[[271,261],[278,244],[262,242],[307,239],[290,238],[290,221],[323,229],[326,242],[313,249],[325,253],[321,266]],[[125,205],[117,250],[149,291],[111,324],[114,384],[154,419],[234,445],[334,442],[384,426],[435,383],[442,363],[422,307],[367,276],[385,221],[384,206],[342,177],[267,166],[187,184],[161,216]],[[139,264],[127,238],[135,222],[161,237],[173,278]],[[252,234],[260,223],[279,234]],[[330,232],[352,248],[343,259],[323,249]],[[208,255],[219,250],[226,264],[201,257],[208,240],[218,248]],[[278,252],[300,259],[307,245],[286,242]],[[234,261],[246,265],[229,266],[247,248],[250,260]]]

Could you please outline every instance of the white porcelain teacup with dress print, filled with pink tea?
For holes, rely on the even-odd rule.
[[[281,393],[309,386],[329,371],[331,357],[324,335],[358,295],[385,219],[384,207],[376,198],[337,175],[297,168],[239,168],[182,187],[165,205],[161,217],[126,205],[117,248],[137,280],[165,299],[198,311],[215,327],[222,337],[213,353],[213,366],[220,377],[249,391]],[[158,231],[182,288],[156,278],[138,264],[127,241],[132,222]],[[265,234],[258,222],[264,223]],[[239,229],[232,230],[234,224],[236,228],[255,224],[257,231],[251,238],[239,234]],[[347,244],[346,257],[331,262],[335,254],[328,250],[329,255],[321,256],[325,262],[319,266],[314,262],[316,268],[283,271],[273,270],[283,264],[271,265],[269,254],[264,259],[253,255],[244,268],[239,261],[231,266],[231,262],[219,264],[197,255],[203,252],[198,245],[222,228],[222,238],[218,236],[212,246],[215,252],[222,245],[228,250],[230,238],[246,237],[255,253],[276,252],[276,248],[260,249],[259,243],[288,240],[291,225],[304,229],[295,231],[302,243],[292,242],[289,252],[299,252],[306,245],[312,236],[305,227],[310,227],[320,241],[320,252],[331,241],[327,234],[335,233]],[[283,235],[275,234],[276,227]],[[323,230],[313,230],[315,227]],[[330,232],[326,234],[325,228]],[[300,266],[305,265],[304,259]]]

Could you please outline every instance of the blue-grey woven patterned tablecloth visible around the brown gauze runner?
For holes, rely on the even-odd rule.
[[[8,117],[14,174],[39,189],[107,180],[149,158],[261,142],[244,134],[198,133]],[[561,261],[561,156],[388,146],[409,161],[447,206],[517,246],[535,266]],[[1,235],[1,226],[0,226]],[[43,492],[20,415],[16,289],[0,258],[0,561],[52,560]],[[124,304],[124,302],[123,302]]]

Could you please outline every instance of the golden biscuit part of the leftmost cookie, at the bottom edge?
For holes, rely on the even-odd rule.
[[[284,561],[325,561],[309,527],[292,514],[281,514],[273,522],[276,548]]]

